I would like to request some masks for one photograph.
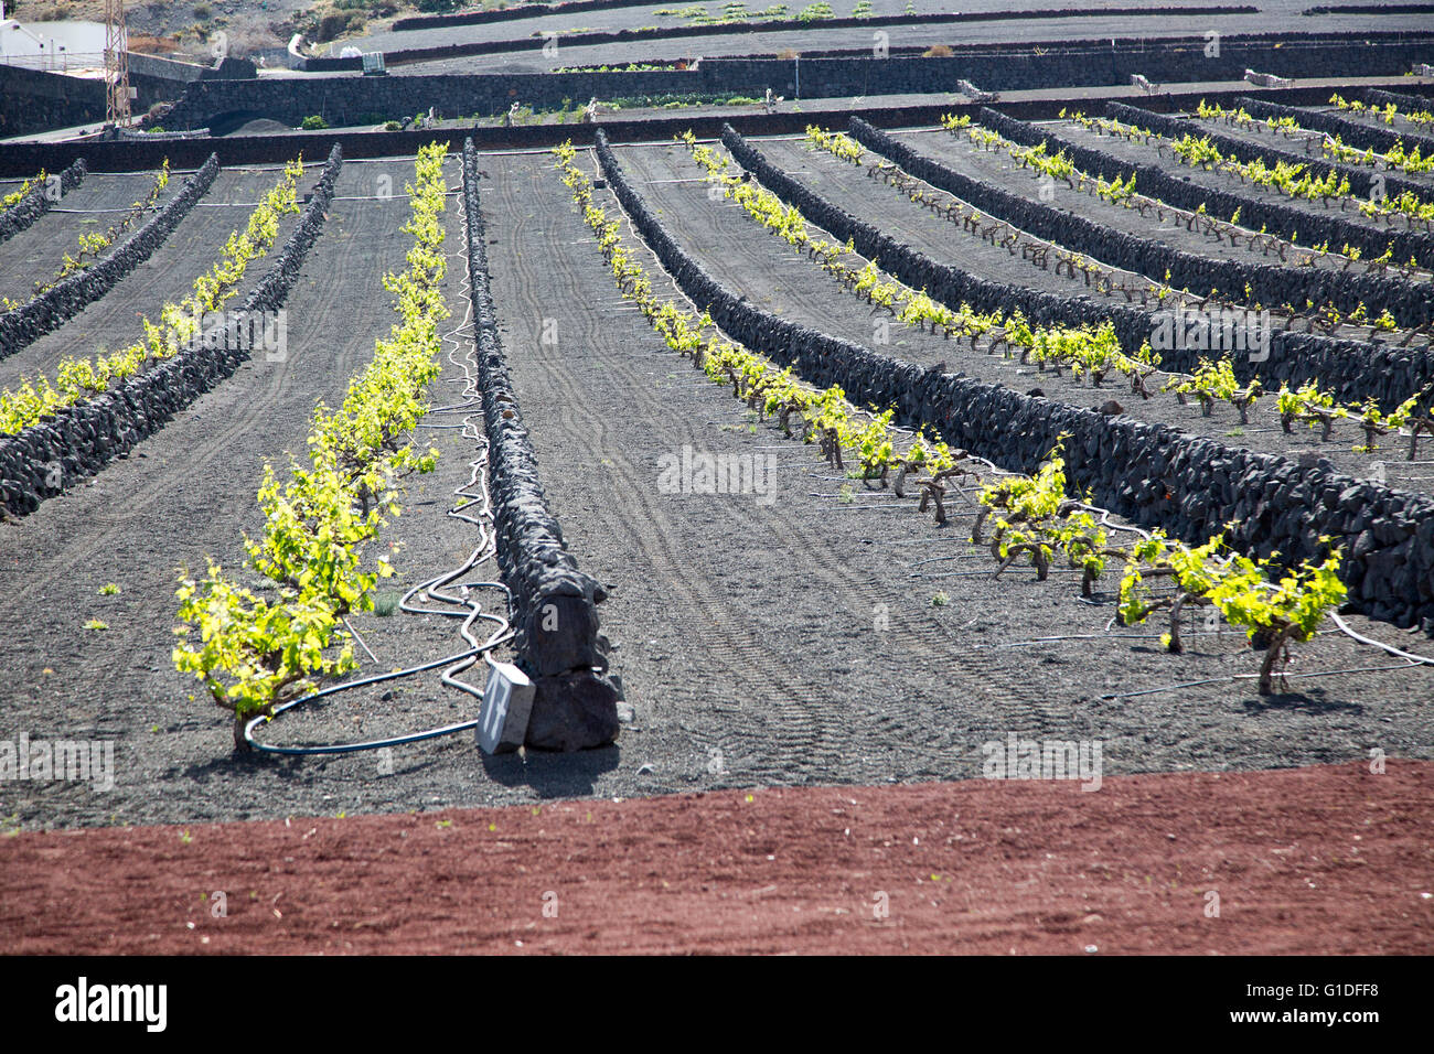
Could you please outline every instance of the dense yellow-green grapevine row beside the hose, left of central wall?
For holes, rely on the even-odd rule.
[[[383,281],[397,297],[400,323],[376,343],[343,404],[314,409],[308,465],[291,462],[287,480],[264,466],[264,531],[245,536],[244,546],[245,566],[272,582],[271,595],[238,587],[212,561],[202,578],[181,579],[175,668],[204,681],[215,706],[234,717],[239,747],[250,718],[356,667],[344,617],[370,611],[376,584],[393,574],[381,556],[367,565],[364,546],[386,515],[400,513],[400,480],[436,462],[437,450],[417,450],[410,435],[427,410],[426,389],[439,373],[437,326],[447,317],[445,153],[442,143],[422,148],[417,185],[404,188],[413,215],[403,231],[413,247],[407,268]]]

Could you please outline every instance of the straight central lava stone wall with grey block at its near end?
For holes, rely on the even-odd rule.
[[[607,597],[562,541],[548,511],[522,412],[508,374],[488,277],[488,247],[478,192],[478,151],[463,145],[463,205],[473,298],[475,357],[488,433],[489,493],[498,564],[513,612],[518,665],[533,680],[526,744],[581,750],[617,739],[615,684],[608,642],[598,632],[597,605]]]

